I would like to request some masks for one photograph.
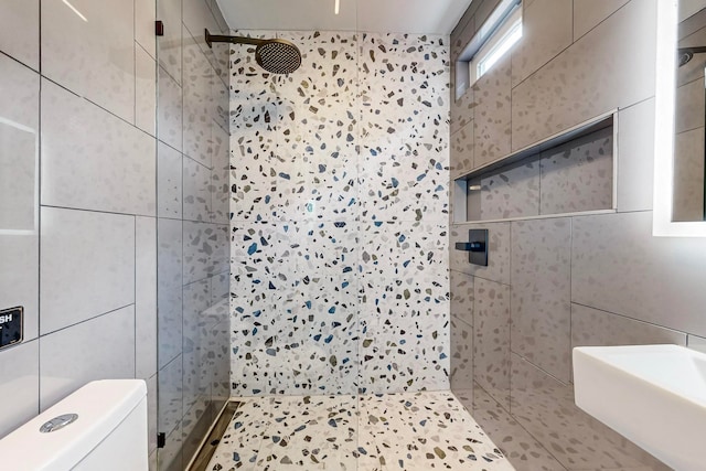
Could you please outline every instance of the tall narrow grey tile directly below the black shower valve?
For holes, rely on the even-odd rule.
[[[473,376],[510,409],[510,287],[475,278]]]

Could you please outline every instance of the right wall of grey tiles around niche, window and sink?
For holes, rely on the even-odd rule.
[[[524,1],[522,42],[451,103],[451,178],[618,109],[617,212],[452,217],[451,247],[488,228],[490,254],[450,250],[451,387],[518,470],[666,469],[576,408],[571,347],[706,336],[706,242],[652,237],[656,1]],[[452,78],[496,3],[453,31]]]

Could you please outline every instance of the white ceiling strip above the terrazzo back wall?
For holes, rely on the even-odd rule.
[[[471,0],[217,0],[233,30],[449,34]]]

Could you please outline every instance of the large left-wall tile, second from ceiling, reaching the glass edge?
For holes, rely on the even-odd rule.
[[[149,135],[42,82],[42,204],[153,216],[156,152]]]

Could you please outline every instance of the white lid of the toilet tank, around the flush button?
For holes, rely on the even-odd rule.
[[[101,379],[86,384],[0,440],[7,469],[71,469],[96,448],[147,396],[142,379]],[[78,419],[41,433],[47,420],[64,414]],[[147,424],[146,424],[147,427]]]

